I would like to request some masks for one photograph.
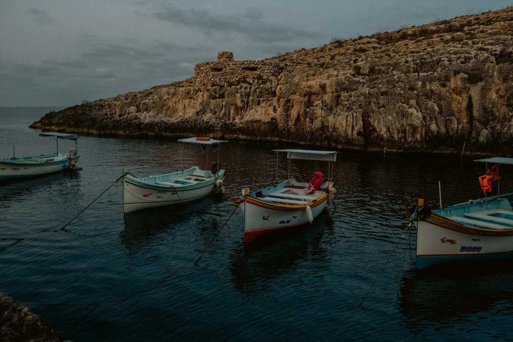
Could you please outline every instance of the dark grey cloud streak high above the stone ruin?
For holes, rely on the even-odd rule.
[[[317,39],[319,34],[290,25],[270,24],[264,21],[261,11],[246,10],[240,15],[217,15],[194,8],[181,9],[164,6],[153,12],[152,17],[185,27],[197,28],[206,34],[212,32],[240,33],[258,42],[290,42],[297,39]]]

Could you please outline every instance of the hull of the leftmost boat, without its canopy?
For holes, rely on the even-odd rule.
[[[49,165],[30,165],[30,164],[14,164],[0,162],[0,181],[38,177],[56,172],[61,172],[71,166],[71,161],[77,161],[79,156],[73,159],[63,160],[58,163],[51,163]]]

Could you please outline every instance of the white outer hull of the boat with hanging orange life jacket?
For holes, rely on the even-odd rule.
[[[439,217],[419,220],[417,226],[417,269],[437,264],[463,261],[486,261],[513,257],[513,232],[493,232],[466,227],[468,233],[457,227],[443,227]],[[438,220],[437,220],[438,219]],[[453,225],[456,225],[453,223]],[[461,226],[464,227],[464,226]]]

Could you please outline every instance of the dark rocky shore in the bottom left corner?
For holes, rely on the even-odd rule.
[[[63,342],[40,316],[0,293],[0,341]]]

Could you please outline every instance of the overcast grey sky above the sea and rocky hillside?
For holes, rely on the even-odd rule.
[[[0,106],[68,106],[510,0],[0,0]]]

